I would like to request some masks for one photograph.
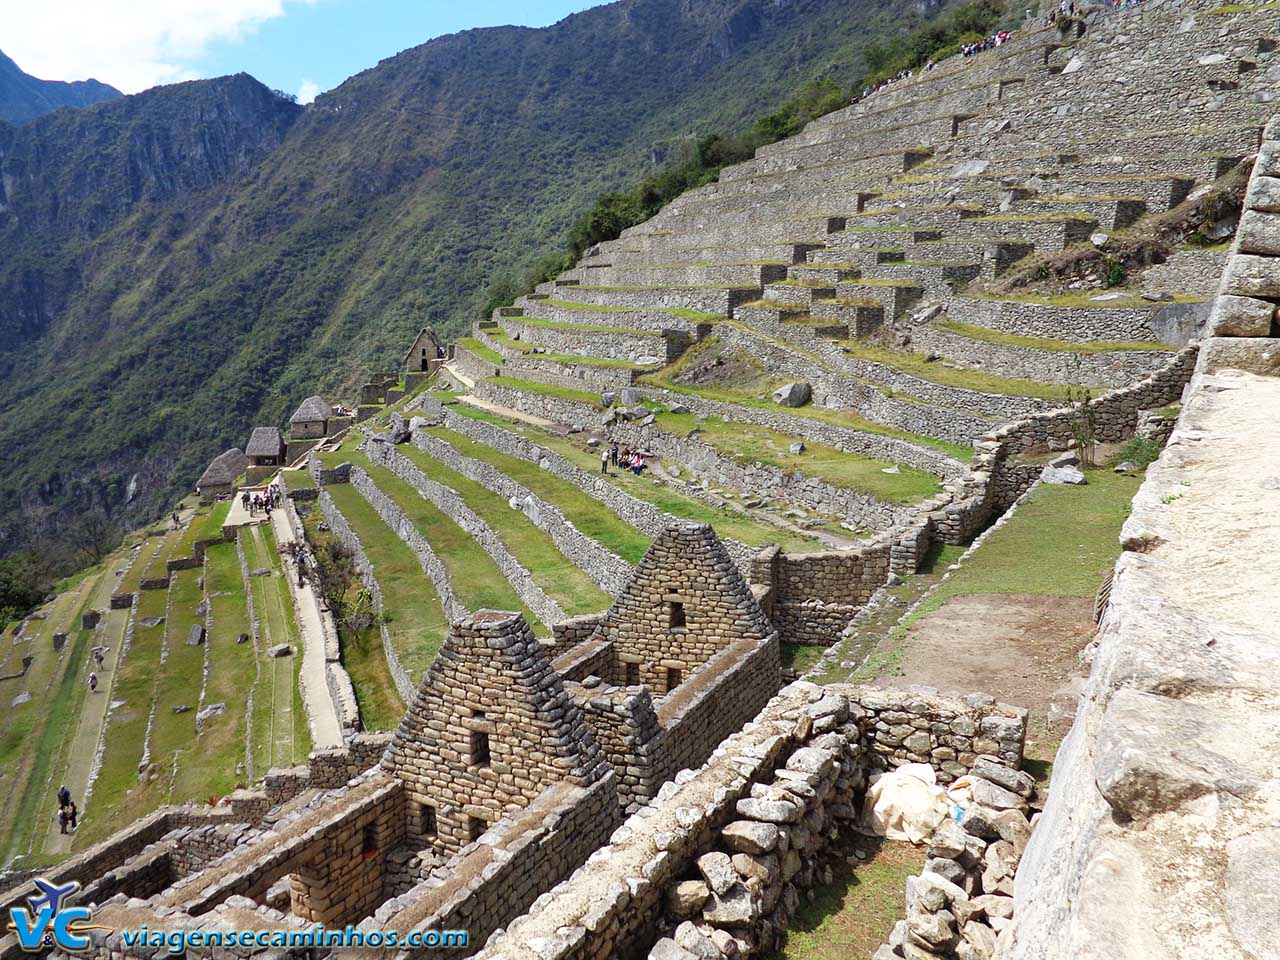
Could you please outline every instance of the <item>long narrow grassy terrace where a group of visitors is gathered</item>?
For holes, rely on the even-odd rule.
[[[494,424],[530,438],[552,453],[561,454],[580,470],[588,472],[599,472],[600,470],[600,454],[593,448],[579,444],[567,436],[559,436],[526,424],[518,424],[466,403],[460,403],[451,407],[451,410],[461,416],[483,420],[484,422]],[[613,470],[609,472],[608,480],[637,500],[652,503],[664,513],[680,517],[681,520],[710,524],[721,536],[730,536],[750,547],[765,547],[776,543],[782,549],[795,553],[827,549],[823,541],[815,538],[753,520],[750,515],[744,512],[714,507],[703,500],[687,497],[669,484],[655,480],[648,471],[636,476],[635,474]]]

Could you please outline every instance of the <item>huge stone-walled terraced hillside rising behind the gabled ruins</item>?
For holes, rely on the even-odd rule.
[[[1053,449],[1167,415],[1275,36],[1266,6],[1093,9],[815,120],[477,321],[353,485],[412,547],[408,484],[552,631],[585,612],[552,571],[608,593],[663,516],[708,518],[783,640],[829,644]],[[602,475],[609,443],[644,472]],[[520,556],[529,525],[559,557]]]

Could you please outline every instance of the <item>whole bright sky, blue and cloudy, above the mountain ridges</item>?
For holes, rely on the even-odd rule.
[[[47,0],[6,14],[0,49],[42,79],[127,93],[244,70],[310,100],[431,37],[545,27],[600,0]]]

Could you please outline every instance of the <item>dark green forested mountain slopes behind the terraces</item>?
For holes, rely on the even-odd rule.
[[[463,329],[600,193],[859,76],[908,19],[621,0],[433,40],[305,110],[232,77],[0,128],[0,549],[159,513],[253,424]]]

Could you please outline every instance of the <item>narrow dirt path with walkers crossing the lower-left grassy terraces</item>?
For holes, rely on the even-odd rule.
[[[192,522],[191,517],[186,517]],[[65,785],[76,801],[78,819],[83,823],[90,815],[90,799],[86,794],[90,787],[90,776],[93,772],[93,760],[97,756],[99,744],[102,741],[102,731],[106,727],[106,716],[111,705],[111,690],[115,686],[115,668],[119,666],[120,648],[124,645],[124,631],[129,623],[129,608],[110,609],[111,594],[116,589],[119,579],[129,566],[129,556],[108,567],[97,579],[86,609],[104,611],[97,631],[93,634],[90,657],[93,646],[105,646],[102,652],[102,666],[93,664],[97,673],[97,691],[84,695],[84,705],[81,709],[79,723],[76,735],[70,741],[70,749],[63,763],[61,778],[58,786]],[[74,666],[69,667],[74,669]],[[87,676],[87,675],[86,675]],[[50,799],[56,787],[51,783]],[[49,814],[49,833],[45,837],[45,854],[64,855],[70,851],[76,840],[74,833],[63,833],[58,824],[58,810],[51,809]]]

